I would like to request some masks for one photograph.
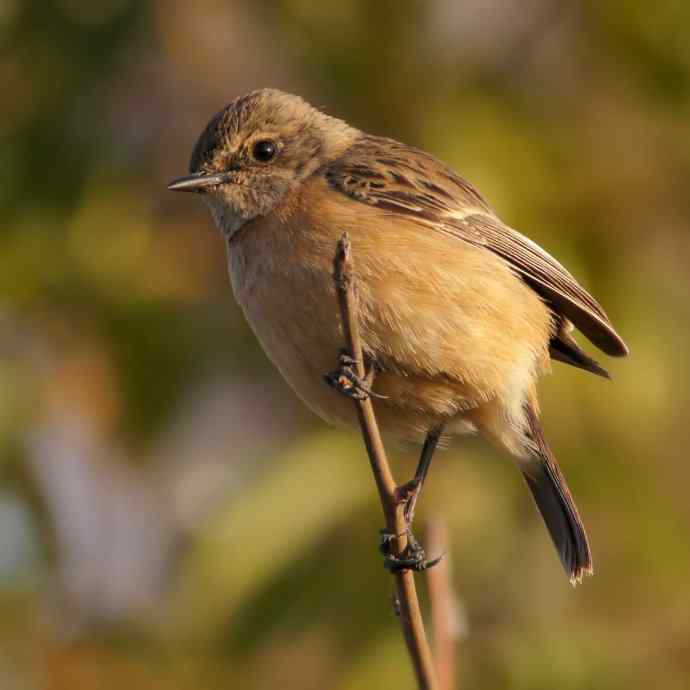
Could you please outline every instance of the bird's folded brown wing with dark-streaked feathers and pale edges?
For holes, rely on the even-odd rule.
[[[502,223],[469,182],[433,156],[365,136],[323,173],[334,189],[357,201],[414,217],[421,225],[494,252],[594,345],[614,357],[628,354],[606,312],[575,278],[541,247]]]

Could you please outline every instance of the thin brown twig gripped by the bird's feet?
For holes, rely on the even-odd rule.
[[[364,365],[362,341],[357,321],[357,295],[355,292],[352,254],[347,233],[337,244],[333,261],[333,280],[343,323],[343,332],[357,378],[371,380],[372,372]],[[381,439],[374,408],[368,395],[353,397],[357,406],[359,425],[369,455],[371,469],[381,499],[381,507],[386,520],[386,532],[394,535],[390,540],[391,556],[404,558],[408,550],[408,525],[404,517],[404,503],[397,492],[398,485],[393,478],[386,451]],[[411,570],[393,573],[395,577],[400,625],[412,659],[417,684],[420,690],[438,690],[436,670],[431,649],[424,630],[424,622],[417,598],[414,574]]]

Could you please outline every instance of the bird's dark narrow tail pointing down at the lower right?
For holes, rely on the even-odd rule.
[[[556,458],[546,443],[541,424],[526,406],[530,435],[537,456],[522,466],[522,473],[541,513],[561,563],[572,584],[592,574],[592,554],[587,534]]]

